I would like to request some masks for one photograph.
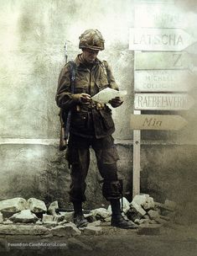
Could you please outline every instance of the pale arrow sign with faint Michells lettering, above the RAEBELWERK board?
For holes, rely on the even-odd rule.
[[[187,92],[194,87],[194,75],[188,70],[137,70],[136,92]]]

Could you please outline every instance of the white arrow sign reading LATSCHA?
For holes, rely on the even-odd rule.
[[[183,51],[194,43],[183,29],[132,28],[129,50],[132,51]]]

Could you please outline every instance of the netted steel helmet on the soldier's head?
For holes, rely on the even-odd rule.
[[[83,34],[80,35],[79,48],[88,48],[95,51],[104,50],[105,40],[102,38],[101,32],[97,29],[86,29]]]

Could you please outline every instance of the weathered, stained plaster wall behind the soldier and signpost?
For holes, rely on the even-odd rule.
[[[80,52],[79,35],[89,28],[101,30],[106,51],[99,56],[110,62],[117,83],[128,93],[122,107],[113,109],[113,116],[117,126],[114,136],[122,140],[118,144],[121,157],[118,164],[126,181],[125,190],[130,193],[127,196],[131,198],[132,131],[129,121],[133,111],[133,52],[128,51],[128,30],[133,26],[133,2],[0,0],[2,199],[35,196],[47,202],[59,200],[60,205],[67,206],[70,177],[64,153],[58,152],[57,147],[60,124],[54,94],[60,68],[65,63],[65,40],[69,59],[73,59]],[[196,14],[192,4],[185,7],[184,2],[179,3],[176,1],[194,22]],[[196,35],[193,25],[189,24],[186,29]],[[188,49],[194,60],[194,74],[197,73],[196,49],[196,45]],[[194,99],[196,88],[191,92]],[[166,197],[179,202],[194,199],[197,110],[194,107],[179,114],[189,121],[182,131],[142,132],[146,142],[142,146],[142,191],[158,200]],[[126,140],[130,140],[128,144]],[[92,157],[87,180],[88,207],[106,203],[101,198],[99,179],[96,159]]]

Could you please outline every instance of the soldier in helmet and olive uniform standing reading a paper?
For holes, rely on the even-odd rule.
[[[117,177],[117,148],[111,134],[115,131],[111,109],[106,104],[91,100],[91,96],[104,88],[117,89],[117,83],[106,61],[97,58],[104,50],[104,40],[97,29],[87,29],[80,35],[75,67],[68,62],[60,72],[56,93],[57,105],[71,109],[70,138],[67,160],[70,163],[70,201],[74,205],[74,222],[77,227],[85,227],[87,221],[82,213],[82,202],[86,200],[86,175],[90,163],[89,147],[96,153],[99,172],[103,178],[102,194],[111,203],[111,226],[136,228],[132,221],[126,221],[121,214],[120,198],[122,186]],[[70,90],[70,72],[75,68],[75,91]],[[113,108],[122,104],[119,97],[109,102]]]

